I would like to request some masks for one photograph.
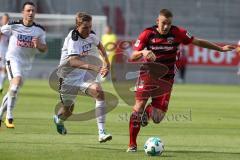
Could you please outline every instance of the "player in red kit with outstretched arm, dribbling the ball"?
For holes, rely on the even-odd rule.
[[[140,68],[136,85],[135,105],[129,122],[130,141],[127,152],[137,151],[136,141],[140,126],[146,126],[148,119],[152,119],[154,123],[160,123],[168,110],[171,88],[174,82],[176,54],[180,44],[192,43],[220,52],[235,49],[231,45],[221,47],[207,40],[193,37],[184,28],[173,26],[172,18],[171,11],[162,9],[156,21],[157,25],[146,28],[139,35],[134,45],[130,60],[143,59],[146,63]],[[154,64],[159,64],[159,66],[156,67]],[[165,73],[156,75],[156,71],[161,72],[161,70],[165,70]],[[153,90],[155,92],[152,92]],[[146,106],[149,98],[152,101]]]

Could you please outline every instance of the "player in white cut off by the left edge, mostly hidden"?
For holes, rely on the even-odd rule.
[[[9,21],[9,15],[7,13],[4,13],[1,17],[1,26],[6,25]],[[1,27],[0,27],[1,29]],[[0,38],[0,93],[3,91],[3,85],[6,77],[6,52],[8,48],[8,41],[9,37],[2,35]]]

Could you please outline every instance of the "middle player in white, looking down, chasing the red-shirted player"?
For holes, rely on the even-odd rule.
[[[54,122],[59,134],[67,134],[64,121],[72,115],[74,101],[78,91],[80,91],[95,99],[98,141],[102,143],[112,139],[111,134],[107,134],[105,130],[105,98],[101,85],[95,81],[96,77],[93,77],[88,70],[100,73],[102,77],[105,77],[109,72],[110,63],[102,43],[91,31],[91,28],[92,17],[87,13],[78,12],[76,14],[76,27],[65,38],[62,48],[58,67],[62,106],[57,115],[54,116]],[[91,56],[89,54],[94,47],[99,50],[99,52],[95,51],[94,54],[100,54],[103,59],[102,67],[85,61]],[[65,73],[67,70],[69,70],[68,73]]]

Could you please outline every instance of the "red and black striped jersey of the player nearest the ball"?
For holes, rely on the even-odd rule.
[[[164,79],[173,79],[175,75],[175,63],[178,46],[189,44],[193,41],[187,30],[171,26],[170,31],[166,35],[161,35],[157,31],[157,26],[146,28],[138,37],[134,44],[134,50],[143,49],[151,50],[157,57],[157,63],[161,63],[168,67],[168,73],[162,77]]]

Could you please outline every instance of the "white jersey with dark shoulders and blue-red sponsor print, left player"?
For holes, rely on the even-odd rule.
[[[44,28],[36,23],[24,26],[23,21],[20,20],[2,26],[1,32],[10,37],[6,60],[14,59],[21,64],[21,67],[31,68],[37,50],[32,39],[39,38],[41,43],[46,44]]]

